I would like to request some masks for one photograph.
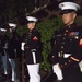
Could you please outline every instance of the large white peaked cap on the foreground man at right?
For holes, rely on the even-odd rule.
[[[78,11],[80,9],[80,5],[74,2],[61,2],[59,4],[59,8],[61,10],[74,10]]]

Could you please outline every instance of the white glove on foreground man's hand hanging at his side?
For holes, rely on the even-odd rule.
[[[62,80],[63,79],[61,69],[59,67],[59,63],[54,65],[52,66],[52,70],[54,70],[54,73],[56,73],[58,80]]]

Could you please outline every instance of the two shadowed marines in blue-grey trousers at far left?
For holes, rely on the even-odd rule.
[[[9,35],[7,35],[5,28],[0,28],[0,56],[2,56],[2,63],[4,73],[2,75],[10,74],[8,71],[8,61],[11,65],[12,78],[11,81],[19,79],[19,60],[22,57],[21,50],[21,36],[16,32],[16,24],[9,23]]]

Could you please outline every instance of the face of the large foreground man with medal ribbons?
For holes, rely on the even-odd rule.
[[[74,22],[75,16],[77,16],[77,14],[74,12],[63,13],[62,21],[66,25],[70,25]]]

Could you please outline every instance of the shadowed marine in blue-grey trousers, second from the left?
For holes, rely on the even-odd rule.
[[[16,62],[17,58],[21,57],[22,50],[21,50],[21,36],[15,31],[16,24],[9,23],[10,26],[10,36],[8,42],[8,57],[9,62],[11,65],[12,69],[12,81],[16,81],[19,69],[19,62]],[[17,60],[19,61],[19,60]]]

